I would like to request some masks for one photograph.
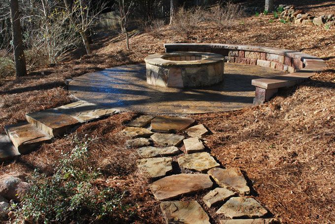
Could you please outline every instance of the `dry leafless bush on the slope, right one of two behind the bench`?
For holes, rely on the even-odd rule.
[[[226,5],[210,9],[206,13],[206,20],[221,30],[236,23],[236,19],[243,17],[244,12],[240,5],[228,2]]]

